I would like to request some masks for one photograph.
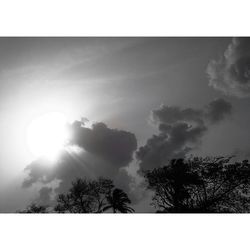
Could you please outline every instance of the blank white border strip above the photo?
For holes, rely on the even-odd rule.
[[[248,0],[5,0],[5,36],[249,35]]]

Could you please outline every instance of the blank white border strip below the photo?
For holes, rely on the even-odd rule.
[[[246,249],[247,215],[0,215],[2,249]],[[4,226],[3,226],[4,225]]]

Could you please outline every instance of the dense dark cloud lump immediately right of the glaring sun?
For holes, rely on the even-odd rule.
[[[117,167],[124,167],[131,162],[137,147],[134,134],[110,129],[104,123],[96,123],[90,129],[77,122],[72,128],[72,144],[100,156]]]

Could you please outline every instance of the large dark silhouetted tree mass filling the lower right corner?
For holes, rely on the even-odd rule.
[[[172,160],[147,171],[153,205],[161,212],[249,212],[250,165],[231,159]]]

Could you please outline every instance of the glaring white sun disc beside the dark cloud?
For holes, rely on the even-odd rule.
[[[32,120],[26,133],[32,156],[56,160],[68,139],[66,124],[66,116],[59,112],[46,113]]]

